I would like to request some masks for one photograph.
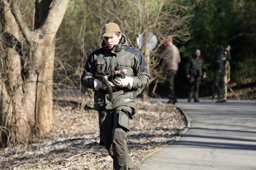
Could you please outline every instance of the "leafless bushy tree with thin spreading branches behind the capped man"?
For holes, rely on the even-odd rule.
[[[143,49],[151,82],[162,77],[157,66],[161,59],[161,48],[167,35],[171,35],[178,43],[184,43],[190,38],[188,27],[193,17],[191,10],[195,5],[186,5],[184,0],[112,0],[113,8],[105,8],[106,13],[114,17],[126,35],[130,45],[138,48],[136,38],[143,34]],[[112,20],[113,21],[113,20]],[[157,36],[157,46],[149,49],[149,34]],[[148,86],[143,92],[143,100],[147,100]]]

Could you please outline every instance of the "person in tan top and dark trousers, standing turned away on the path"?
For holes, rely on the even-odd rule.
[[[181,57],[179,49],[172,42],[172,36],[168,35],[166,37],[166,45],[162,67],[163,72],[167,75],[166,83],[169,103],[175,104],[177,99],[174,93],[174,77],[177,73],[179,63],[181,62]]]

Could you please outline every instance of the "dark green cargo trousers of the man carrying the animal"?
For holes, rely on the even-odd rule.
[[[114,170],[137,170],[128,156],[127,132],[131,108],[120,106],[115,109],[99,111],[100,145],[104,145],[113,159]]]

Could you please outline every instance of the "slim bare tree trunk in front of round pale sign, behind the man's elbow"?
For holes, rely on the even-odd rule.
[[[149,48],[149,33],[150,31],[146,29],[145,34],[144,34],[144,55],[145,55],[145,60],[147,63],[147,69],[150,72],[150,48]],[[149,92],[149,84],[147,84],[142,92],[142,100],[143,101],[148,101],[148,92]]]

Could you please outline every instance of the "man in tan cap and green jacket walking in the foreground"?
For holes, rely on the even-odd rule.
[[[129,121],[135,113],[137,88],[149,83],[150,74],[144,55],[127,46],[116,23],[105,24],[101,38],[102,47],[89,55],[81,84],[95,90],[94,108],[99,114],[100,145],[104,145],[113,158],[114,169],[137,170],[139,167],[128,156],[127,132],[131,130]],[[126,76],[124,79],[116,77],[111,83],[119,88],[113,90],[113,101],[110,101],[104,83],[94,76],[97,70],[110,74],[117,65]]]

